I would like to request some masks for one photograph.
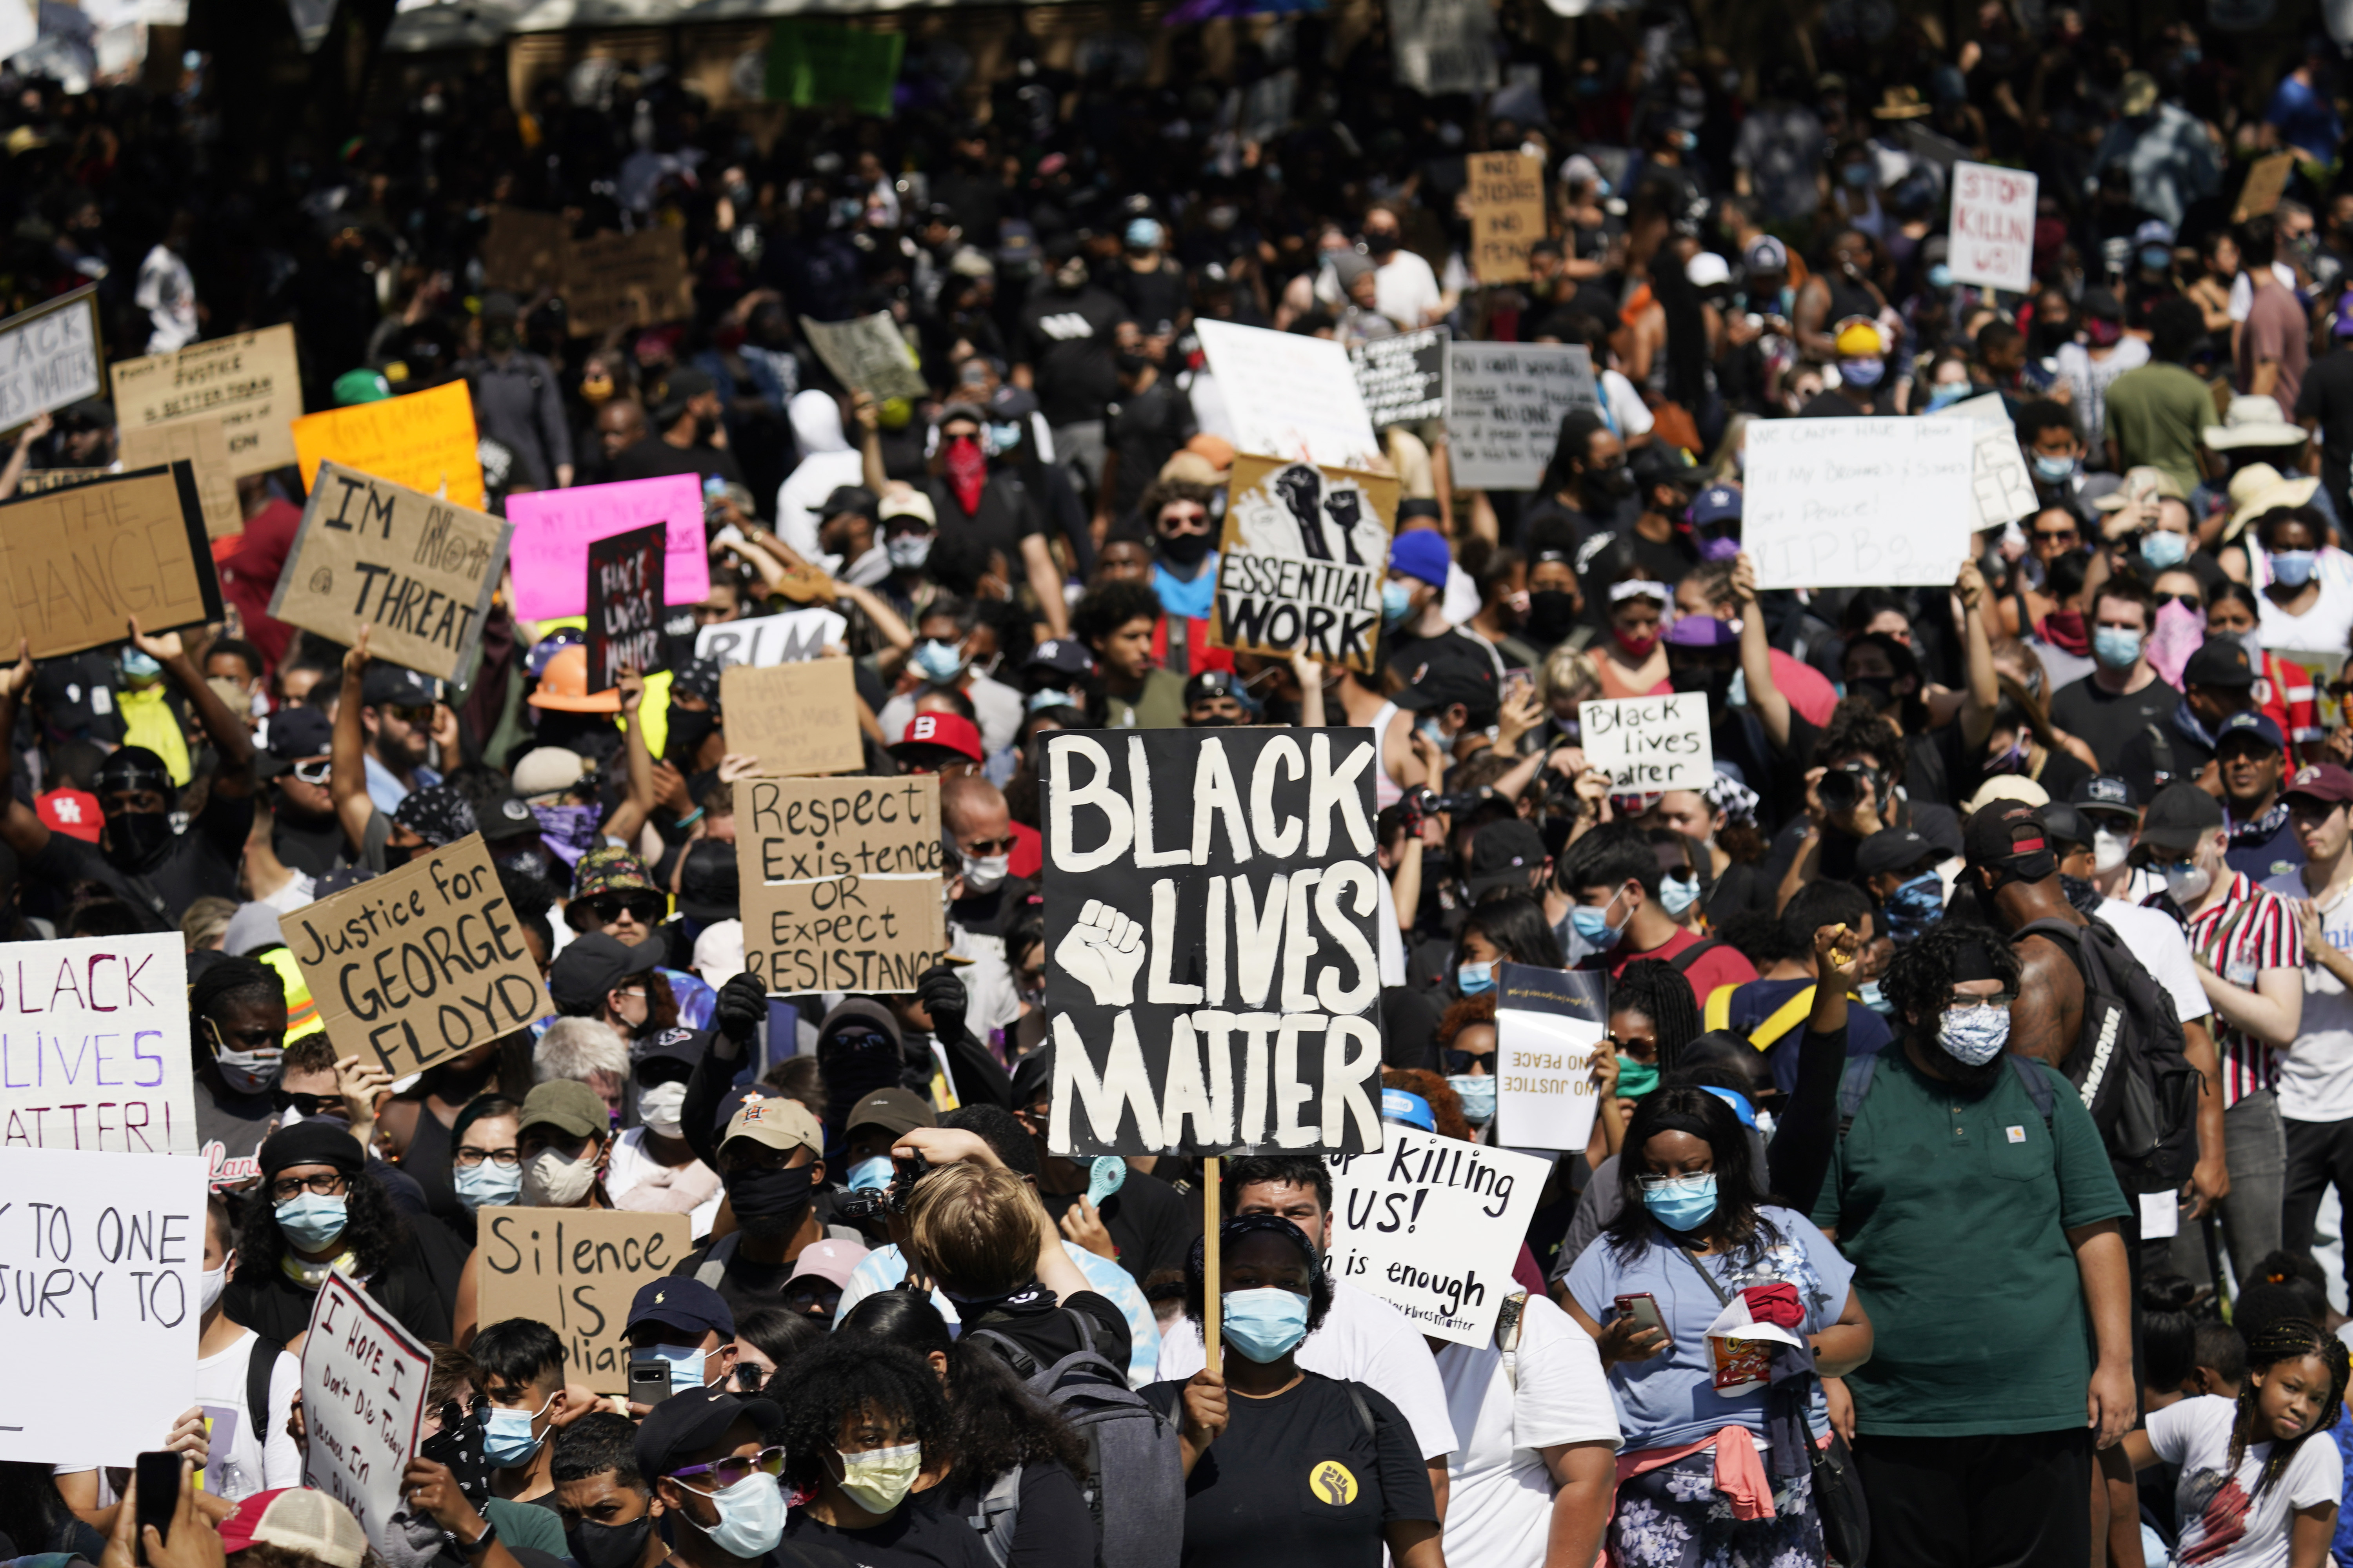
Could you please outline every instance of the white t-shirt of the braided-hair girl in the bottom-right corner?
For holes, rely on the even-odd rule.
[[[2231,1422],[2238,1401],[2200,1394],[2165,1406],[2148,1418],[2148,1446],[2167,1465],[2181,1467],[2174,1483],[2174,1507],[2181,1514],[2179,1563],[2207,1568],[2287,1568],[2287,1516],[2318,1502],[2337,1502],[2344,1488],[2344,1460],[2327,1432],[2313,1432],[2297,1443],[2287,1474],[2261,1497],[2254,1483],[2271,1458],[2271,1443],[2247,1443],[2238,1474],[2231,1462]]]

